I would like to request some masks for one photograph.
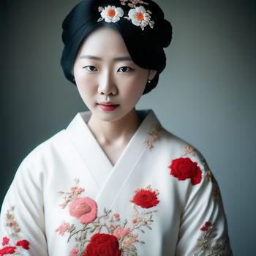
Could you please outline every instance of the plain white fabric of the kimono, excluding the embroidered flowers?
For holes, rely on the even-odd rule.
[[[230,255],[228,241],[225,241],[227,225],[222,200],[213,196],[214,182],[206,177],[203,157],[197,151],[195,156],[186,154],[187,143],[165,129],[159,131],[159,140],[152,140],[148,132],[154,130],[159,121],[151,110],[138,113],[146,117],[114,166],[86,125],[89,112],[78,113],[67,129],[35,148],[21,163],[4,199],[0,239],[9,237],[15,241],[6,218],[7,211],[15,206],[13,216],[20,227],[19,236],[30,243],[30,249],[22,250],[22,255],[69,255],[75,239],[67,242],[69,234],[60,236],[56,229],[62,222],[76,227],[82,225],[70,216],[69,206],[60,207],[64,197],[58,192],[70,191],[75,179],[79,179],[78,187],[84,189],[79,197],[95,200],[98,216],[104,214],[104,208],[118,213],[122,221],[127,219],[127,227],[134,217],[130,200],[135,189],[150,185],[158,190],[157,206],[150,209],[138,206],[141,211],[157,210],[152,214],[152,230],[134,231],[138,240],[145,242],[134,244],[138,255],[192,256],[196,252],[206,255],[197,246],[203,235],[200,228],[205,222],[214,225],[211,246],[225,243],[223,255]],[[172,159],[180,157],[197,162],[202,170],[200,184],[192,186],[190,178],[178,181],[170,175],[168,166]]]

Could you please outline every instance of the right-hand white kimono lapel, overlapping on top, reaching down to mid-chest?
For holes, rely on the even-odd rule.
[[[119,157],[118,162],[116,162],[116,165],[113,167],[100,189],[97,197],[98,206],[106,207],[108,209],[113,207],[122,187],[124,187],[129,176],[135,170],[140,158],[146,151],[148,151],[146,145],[148,132],[157,127],[159,121],[152,110],[138,111],[138,113],[139,115],[147,114],[147,116],[129,141],[127,147],[121,154],[121,157]]]

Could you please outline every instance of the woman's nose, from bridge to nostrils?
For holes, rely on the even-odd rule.
[[[101,75],[99,79],[98,92],[99,94],[105,95],[115,95],[117,93],[116,83],[109,72]]]

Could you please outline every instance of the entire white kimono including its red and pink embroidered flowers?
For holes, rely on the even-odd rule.
[[[217,182],[152,110],[116,162],[78,113],[23,160],[1,208],[0,256],[232,255]]]

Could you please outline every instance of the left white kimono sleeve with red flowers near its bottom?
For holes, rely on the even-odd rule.
[[[47,256],[43,173],[28,157],[18,168],[1,207],[0,255]]]

